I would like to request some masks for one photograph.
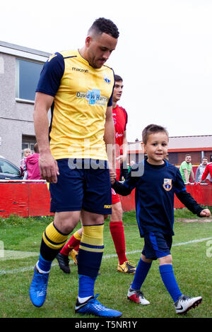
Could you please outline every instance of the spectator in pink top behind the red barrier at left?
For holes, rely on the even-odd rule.
[[[25,160],[26,170],[28,172],[28,180],[39,180],[42,179],[39,170],[39,148],[37,143],[35,143],[34,151],[32,155],[28,155]]]

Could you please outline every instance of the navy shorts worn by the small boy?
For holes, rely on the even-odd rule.
[[[172,235],[160,232],[149,232],[144,235],[144,247],[142,254],[146,259],[159,259],[171,254]]]

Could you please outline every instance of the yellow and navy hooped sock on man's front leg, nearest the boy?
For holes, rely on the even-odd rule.
[[[100,269],[104,224],[83,226],[83,235],[78,250],[78,274],[96,278]]]

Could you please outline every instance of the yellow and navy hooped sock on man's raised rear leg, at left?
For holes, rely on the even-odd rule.
[[[66,243],[69,234],[63,234],[57,227],[55,227],[54,223],[50,223],[42,235],[42,242],[40,245],[40,254],[43,259],[47,261],[53,261],[61,248]]]

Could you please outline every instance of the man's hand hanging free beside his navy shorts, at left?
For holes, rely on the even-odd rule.
[[[50,183],[57,183],[59,168],[51,153],[40,153],[39,167],[42,179]]]

